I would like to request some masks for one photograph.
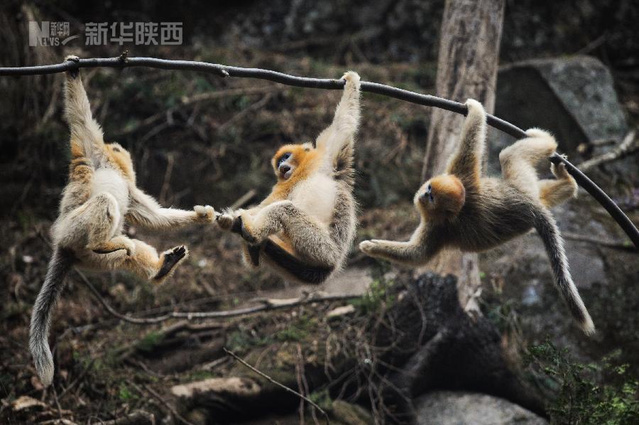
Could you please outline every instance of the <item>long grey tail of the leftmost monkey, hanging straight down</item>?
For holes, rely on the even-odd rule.
[[[33,355],[35,370],[38,372],[40,382],[48,387],[53,381],[53,355],[48,343],[51,314],[58,296],[64,288],[65,276],[73,265],[73,257],[69,252],[55,249],[47,276],[40,288],[38,298],[33,304],[31,314],[31,330],[29,331],[29,350]]]

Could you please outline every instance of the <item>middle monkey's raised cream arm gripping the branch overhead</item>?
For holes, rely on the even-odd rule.
[[[332,167],[334,158],[342,149],[350,147],[353,143],[357,127],[359,126],[359,75],[349,71],[342,77],[346,80],[342,99],[335,109],[332,124],[322,131],[317,137],[317,149],[323,150],[323,157],[327,160],[327,165]]]

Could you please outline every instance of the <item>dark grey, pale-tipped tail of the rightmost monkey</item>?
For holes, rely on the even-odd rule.
[[[564,252],[564,240],[549,210],[539,208],[535,212],[535,229],[544,242],[559,292],[570,308],[572,316],[579,322],[581,330],[586,335],[592,335],[595,331],[594,324],[570,276],[568,260]]]

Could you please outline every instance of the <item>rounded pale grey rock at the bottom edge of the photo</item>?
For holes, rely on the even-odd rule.
[[[518,404],[472,392],[430,392],[415,399],[415,411],[419,425],[547,424]]]

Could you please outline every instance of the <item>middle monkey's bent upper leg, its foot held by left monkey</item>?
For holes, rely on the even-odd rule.
[[[251,244],[283,232],[293,250],[308,262],[333,266],[342,254],[327,230],[289,200],[272,203],[255,215],[245,213],[241,217],[242,236]]]

